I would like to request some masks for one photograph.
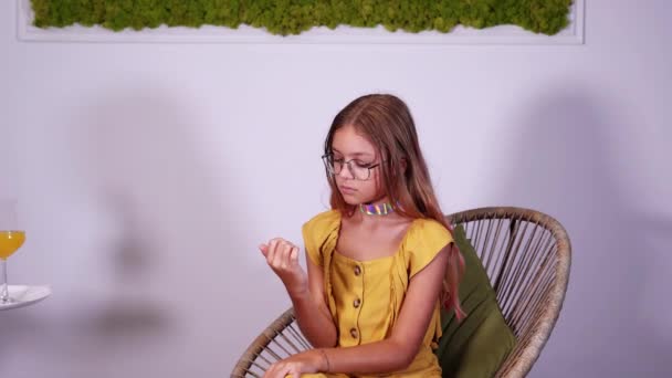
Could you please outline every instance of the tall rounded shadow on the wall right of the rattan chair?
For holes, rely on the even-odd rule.
[[[581,85],[564,87],[525,103],[492,199],[552,214],[573,243],[565,305],[531,376],[670,377],[672,217],[629,200],[609,136],[637,125]]]

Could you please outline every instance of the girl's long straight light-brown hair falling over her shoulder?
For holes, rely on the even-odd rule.
[[[376,147],[385,158],[381,165],[382,187],[391,203],[399,203],[396,210],[402,217],[429,218],[443,224],[451,233],[452,227],[444,218],[429,176],[429,170],[418,144],[416,124],[408,106],[389,94],[361,96],[334,118],[324,143],[325,155],[332,154],[332,141],[336,130],[344,126],[355,129]],[[405,169],[406,165],[406,169]],[[332,187],[333,209],[351,216],[355,207],[348,204],[336,187],[334,176],[327,170]],[[448,270],[443,280],[441,303],[447,309],[454,308],[458,319],[464,317],[458,290],[464,274],[464,259],[453,243],[449,250]]]

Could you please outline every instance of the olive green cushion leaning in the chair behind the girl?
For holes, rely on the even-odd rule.
[[[462,225],[455,227],[453,238],[464,256],[460,300],[466,317],[459,323],[453,311],[441,313],[443,336],[435,354],[443,377],[493,377],[516,338],[504,322],[487,273]]]

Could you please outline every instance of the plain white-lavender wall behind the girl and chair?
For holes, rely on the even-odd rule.
[[[410,105],[445,212],[567,228],[532,377],[669,377],[671,8],[588,1],[585,45],[67,44],[19,43],[1,1],[10,280],[54,294],[0,313],[0,377],[227,376],[288,306],[258,243],[301,242],[328,125],[369,92]]]

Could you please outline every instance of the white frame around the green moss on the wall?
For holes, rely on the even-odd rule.
[[[574,0],[570,23],[556,35],[535,34],[516,25],[471,29],[458,25],[450,33],[388,32],[382,27],[335,30],[316,28],[298,35],[280,36],[242,25],[168,28],[114,32],[102,27],[40,29],[32,25],[30,0],[17,0],[18,39],[21,42],[113,42],[113,43],[260,43],[260,44],[584,44],[585,0]]]

